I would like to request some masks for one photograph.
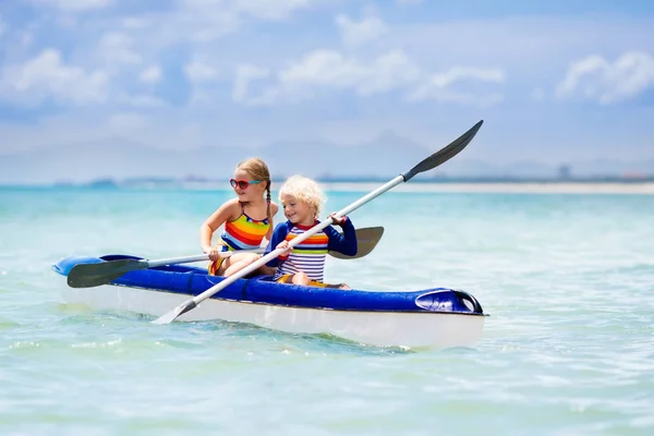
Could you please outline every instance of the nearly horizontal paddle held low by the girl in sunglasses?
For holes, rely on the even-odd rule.
[[[330,255],[350,259],[350,258],[359,258],[370,254],[377,242],[382,239],[384,234],[383,227],[367,227],[363,229],[356,229],[356,241],[359,242],[359,250],[356,255],[354,256],[346,256],[338,252],[329,252]],[[221,257],[229,257],[235,253],[264,253],[265,247],[258,250],[241,250],[241,251],[229,251],[229,252],[220,252]],[[157,266],[164,265],[174,265],[174,264],[187,264],[192,262],[202,262],[208,261],[208,254],[199,254],[194,256],[186,257],[172,257],[160,261],[148,261],[148,259],[117,259],[117,261],[107,261],[100,262],[97,264],[77,264],[71,268],[68,274],[68,284],[71,288],[93,288],[100,284],[107,284],[111,281],[116,280],[123,274],[130,271],[137,271],[140,269],[154,268]]]

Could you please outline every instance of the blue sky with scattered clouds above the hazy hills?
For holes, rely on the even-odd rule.
[[[438,148],[480,119],[468,158],[654,158],[654,2],[0,3],[0,154],[389,130]]]

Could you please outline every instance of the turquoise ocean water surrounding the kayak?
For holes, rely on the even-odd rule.
[[[327,211],[365,193],[328,192]],[[468,290],[491,315],[474,348],[155,326],[62,302],[61,257],[198,254],[230,195],[0,187],[0,434],[654,431],[654,195],[391,191],[354,211],[386,233],[364,258],[330,258],[327,280]]]

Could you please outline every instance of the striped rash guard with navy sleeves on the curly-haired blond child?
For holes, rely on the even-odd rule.
[[[319,222],[316,220],[314,226]],[[280,222],[275,228],[266,254],[274,251],[281,241],[291,242],[312,227],[293,225],[291,221]],[[342,228],[343,233],[341,234],[332,226],[328,226],[295,245],[289,254],[282,254],[268,262],[267,266],[277,267],[274,280],[287,274],[302,271],[311,280],[322,282],[325,272],[325,257],[328,251],[339,252],[348,256],[356,254],[356,231],[350,218],[346,218]]]

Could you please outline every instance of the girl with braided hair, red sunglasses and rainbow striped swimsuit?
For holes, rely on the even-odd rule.
[[[229,277],[259,258],[254,253],[220,257],[218,252],[258,249],[264,239],[270,240],[272,217],[278,210],[277,204],[270,202],[270,172],[262,159],[250,158],[239,164],[230,184],[238,198],[223,203],[199,228],[199,244],[209,255],[209,274],[215,276]],[[222,225],[220,242],[213,247],[211,237]],[[263,267],[261,272],[272,271]]]

